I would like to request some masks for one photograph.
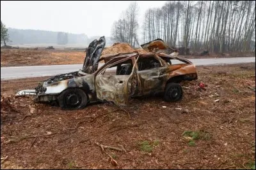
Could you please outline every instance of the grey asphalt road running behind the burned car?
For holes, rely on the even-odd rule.
[[[255,57],[190,59],[190,60],[196,66],[211,66],[211,65],[221,65],[221,64],[238,64],[238,63],[255,62]],[[54,76],[56,74],[79,71],[79,69],[81,69],[82,66],[83,66],[82,64],[70,64],[70,65],[52,65],[52,66],[1,67],[1,80],[38,77],[38,76]],[[99,66],[102,66],[102,64],[99,64]]]

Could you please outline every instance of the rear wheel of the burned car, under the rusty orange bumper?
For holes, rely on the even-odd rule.
[[[182,87],[178,83],[168,83],[164,92],[164,101],[179,101],[182,99],[182,94]]]

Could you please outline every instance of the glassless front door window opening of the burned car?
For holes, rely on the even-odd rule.
[[[104,75],[130,75],[132,73],[132,60],[119,62],[102,72]]]

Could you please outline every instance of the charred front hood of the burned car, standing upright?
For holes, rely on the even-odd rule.
[[[94,39],[86,50],[86,57],[83,64],[83,72],[92,74],[98,69],[100,55],[105,47],[106,40],[102,36],[99,40]]]

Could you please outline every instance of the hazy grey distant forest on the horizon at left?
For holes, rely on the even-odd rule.
[[[33,29],[14,29],[10,27],[8,28],[8,34],[10,36],[12,44],[16,45],[37,43],[60,44],[60,34],[64,34],[65,36],[67,36],[65,37],[65,42],[67,42],[68,44],[84,44],[85,46],[87,46],[91,41],[93,41],[93,39],[100,38],[100,36],[92,36],[88,38],[86,34],[72,34],[68,32],[42,31]],[[112,41],[108,37],[106,38],[106,44],[112,45]]]

